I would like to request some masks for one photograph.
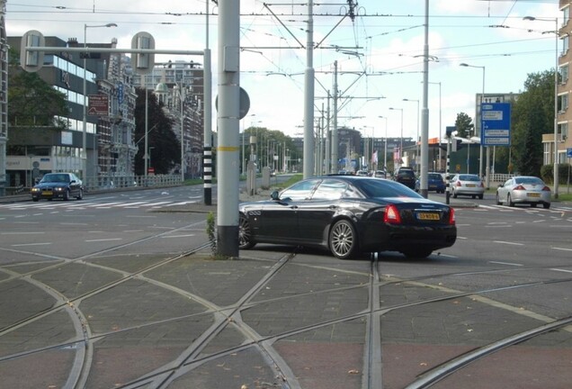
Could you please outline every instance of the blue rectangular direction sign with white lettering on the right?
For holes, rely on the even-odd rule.
[[[480,141],[483,146],[511,145],[511,104],[483,103],[480,105],[482,129]]]

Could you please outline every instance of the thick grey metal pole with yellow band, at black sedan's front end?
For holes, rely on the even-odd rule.
[[[219,0],[219,145],[217,251],[238,257],[240,2]]]

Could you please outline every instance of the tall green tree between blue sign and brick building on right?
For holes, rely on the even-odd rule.
[[[514,169],[540,176],[542,134],[554,131],[554,71],[529,74],[513,110]]]

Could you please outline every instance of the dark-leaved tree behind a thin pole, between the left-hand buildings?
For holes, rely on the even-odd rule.
[[[145,89],[137,89],[135,104],[135,139],[139,150],[135,155],[135,173],[145,174]],[[156,96],[147,95],[147,143],[156,174],[169,174],[181,162],[181,142],[173,131],[174,120],[165,115]],[[152,149],[151,149],[152,148]]]

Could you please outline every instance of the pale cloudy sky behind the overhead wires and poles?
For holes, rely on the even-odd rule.
[[[251,101],[241,129],[255,125],[301,135],[306,50],[299,48],[299,42],[307,41],[308,6],[300,4],[241,1],[240,83]],[[404,136],[415,138],[420,128],[417,106],[423,106],[425,0],[361,0],[355,17],[344,20],[339,14],[347,2],[328,4],[314,7],[314,41],[320,43],[314,51],[317,110],[322,105],[326,109],[323,97],[333,90],[336,60],[341,94],[338,125],[381,137],[387,122],[389,137],[398,137],[402,109]],[[429,86],[430,138],[440,133],[440,112],[442,132],[454,124],[457,113],[474,118],[483,74],[486,93],[518,93],[528,74],[554,68],[558,4],[558,0],[430,0],[429,81],[441,83],[442,95],[440,99],[438,84]],[[84,41],[85,24],[116,23],[116,28],[87,28],[87,42],[117,38],[119,47],[129,48],[133,35],[144,31],[154,36],[157,49],[203,50],[207,6],[213,14],[209,46],[216,96],[219,26],[218,8],[212,2],[8,0],[5,19],[8,36],[34,29],[45,36]],[[548,21],[524,21],[524,16]],[[156,57],[161,62],[169,59],[202,62],[200,57]]]

